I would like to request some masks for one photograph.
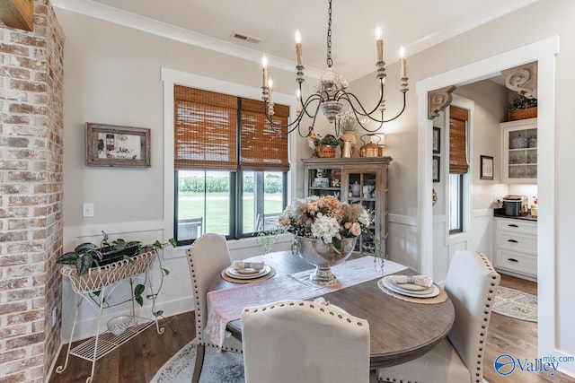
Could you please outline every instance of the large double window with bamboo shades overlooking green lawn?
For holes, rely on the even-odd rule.
[[[174,237],[205,232],[249,237],[287,204],[288,136],[273,131],[264,103],[174,86]],[[274,121],[289,108],[275,106]]]

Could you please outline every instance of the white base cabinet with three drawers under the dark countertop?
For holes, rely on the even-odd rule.
[[[495,220],[495,268],[503,274],[536,280],[537,222],[513,218]]]

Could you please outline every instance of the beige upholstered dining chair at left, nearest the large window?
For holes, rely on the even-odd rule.
[[[196,239],[196,241],[187,249],[188,265],[190,266],[191,285],[194,293],[194,309],[196,317],[196,339],[197,353],[192,383],[199,381],[201,369],[204,363],[206,347],[217,347],[209,341],[209,335],[206,334],[206,324],[208,320],[207,313],[207,294],[209,285],[214,278],[222,272],[227,266],[231,265],[230,253],[227,248],[226,237],[206,233]],[[231,351],[242,353],[242,343],[233,336],[227,336],[222,346],[222,351]]]

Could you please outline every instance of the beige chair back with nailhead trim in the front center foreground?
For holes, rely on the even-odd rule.
[[[333,306],[284,300],[242,313],[246,383],[367,383],[369,324]]]

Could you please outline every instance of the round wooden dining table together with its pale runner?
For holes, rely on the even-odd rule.
[[[360,261],[361,257],[364,256],[354,253],[343,264],[332,266],[333,274],[338,277],[339,274],[346,273],[349,271],[348,265]],[[373,265],[370,266],[364,262],[363,267],[367,267],[368,278],[371,279],[355,284],[349,283],[349,286],[342,287],[336,283],[332,288],[327,286],[317,289],[312,281],[304,278],[309,281],[308,283],[303,281],[309,287],[309,294],[305,294],[303,299],[323,298],[329,304],[344,309],[350,315],[367,319],[370,330],[370,369],[372,370],[411,361],[424,353],[428,353],[435,344],[447,336],[454,323],[455,309],[447,293],[439,287],[444,298],[447,298],[445,301],[430,304],[398,299],[397,295],[385,293],[377,282],[386,274],[414,275],[418,273],[390,260],[385,260],[382,268],[378,259],[371,256],[367,257],[373,259],[373,261],[369,260],[369,263],[373,263]],[[264,256],[245,259],[245,261],[263,261],[274,272],[273,276],[258,280],[256,283],[259,284],[253,286],[257,287],[258,299],[261,304],[278,300],[278,296],[271,293],[268,300],[266,297],[267,286],[270,286],[271,292],[273,283],[279,283],[282,277],[287,279],[292,275],[306,275],[307,271],[309,274],[314,271],[313,265],[292,255],[290,251],[268,253]],[[373,267],[373,270],[369,270],[370,267]],[[357,270],[350,273],[356,274],[355,277],[359,274]],[[373,277],[374,275],[376,276]],[[353,275],[349,276],[353,277]],[[344,279],[343,276],[341,279]],[[245,289],[245,282],[247,281],[238,281],[240,283],[232,281],[232,279],[226,278],[224,272],[212,281],[208,292],[208,316],[210,310],[215,309],[210,308],[210,305],[217,304],[212,303],[216,297],[212,296],[212,300],[210,300],[210,294],[214,293],[217,293],[221,300],[226,300],[227,297],[240,300],[239,302],[234,301],[236,305],[244,305],[243,307],[253,305],[254,300],[250,296],[251,292]],[[255,285],[256,283],[249,284]],[[307,287],[303,289],[305,291]],[[223,292],[224,290],[226,292]],[[235,294],[231,294],[233,292]],[[321,293],[315,296],[315,292]],[[231,295],[227,295],[228,293]],[[242,303],[241,300],[243,299],[246,303]],[[220,304],[226,306],[225,301],[220,302]],[[242,339],[242,323],[239,316],[226,322],[226,331],[237,339]]]

